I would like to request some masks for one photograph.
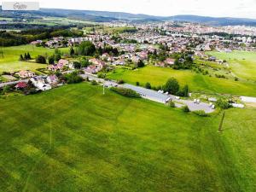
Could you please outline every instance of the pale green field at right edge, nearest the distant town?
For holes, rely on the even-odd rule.
[[[219,59],[229,62],[230,67],[238,77],[256,81],[256,52],[233,51],[231,53],[211,51]]]

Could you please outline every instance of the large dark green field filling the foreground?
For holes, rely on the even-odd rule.
[[[86,83],[0,102],[0,191],[256,190],[253,108],[219,133],[221,115]]]

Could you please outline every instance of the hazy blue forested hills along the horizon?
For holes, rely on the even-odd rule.
[[[113,20],[127,20],[137,22],[148,21],[189,21],[207,24],[211,26],[229,26],[229,25],[246,25],[256,26],[255,19],[247,18],[229,18],[229,17],[207,17],[199,15],[173,15],[173,16],[154,16],[143,14],[130,14],[125,12],[108,12],[108,11],[95,11],[95,10],[73,10],[73,9],[39,9],[38,11],[3,11],[0,10],[1,17],[24,17],[24,16],[42,17],[66,17],[70,19],[89,20],[95,22],[108,22]]]

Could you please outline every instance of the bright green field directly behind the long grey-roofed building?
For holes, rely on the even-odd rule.
[[[180,84],[189,84],[190,90],[207,93],[225,93],[237,96],[256,96],[256,84],[240,82],[233,79],[218,79],[194,73],[189,70],[173,70],[172,68],[143,67],[136,71],[119,68],[115,73],[108,73],[109,79],[124,79],[125,82],[145,84],[149,82],[154,86],[166,83],[169,78],[176,78]]]

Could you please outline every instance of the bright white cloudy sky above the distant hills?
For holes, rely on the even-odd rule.
[[[14,0],[4,0],[14,1]],[[26,0],[20,0],[26,1]],[[118,11],[159,16],[204,15],[256,19],[256,0],[27,0],[41,8]]]

